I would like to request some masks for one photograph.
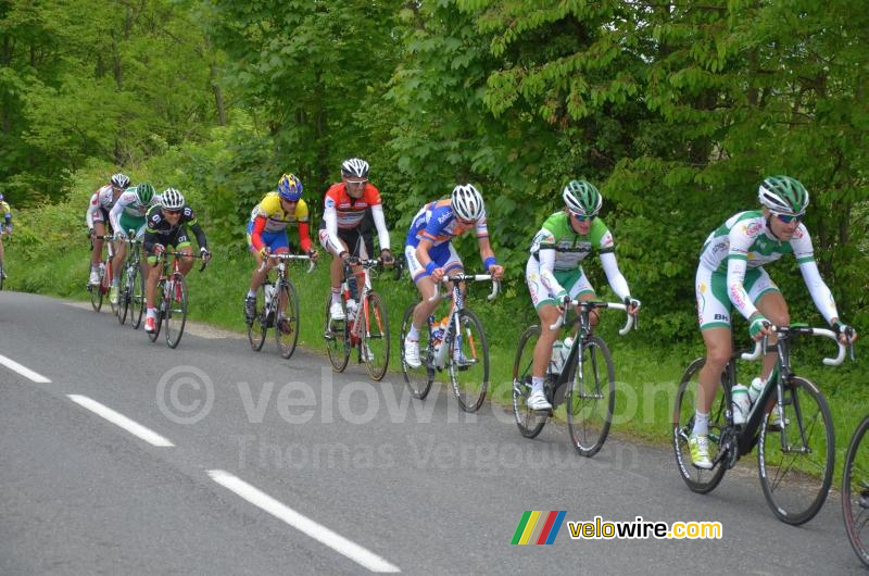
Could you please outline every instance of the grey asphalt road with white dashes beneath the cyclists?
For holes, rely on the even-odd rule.
[[[671,450],[617,427],[581,459],[557,425],[526,440],[505,410],[411,400],[398,375],[201,326],[169,350],[32,295],[0,292],[0,574],[865,573],[837,496],[784,525],[752,458],[700,496]],[[565,523],[509,546],[526,510],[723,537],[572,540]]]

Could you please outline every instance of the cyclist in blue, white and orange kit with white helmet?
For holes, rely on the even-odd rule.
[[[459,184],[453,188],[449,200],[429,202],[416,213],[404,247],[407,270],[423,300],[414,309],[411,328],[404,337],[404,360],[417,368],[419,361],[419,329],[438,306],[428,299],[434,296],[438,283],[451,273],[463,273],[462,259],[453,248],[452,239],[468,230],[475,230],[480,247],[483,267],[496,279],[504,276],[504,266],[498,263],[489,243],[486,226],[486,209],[482,196],[471,184]],[[461,348],[455,347],[456,355]],[[462,362],[461,358],[456,358]]]

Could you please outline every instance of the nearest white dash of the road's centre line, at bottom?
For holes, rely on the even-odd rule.
[[[286,522],[297,530],[300,530],[318,542],[328,546],[336,552],[345,555],[350,560],[368,568],[369,571],[401,572],[401,568],[394,564],[387,562],[385,559],[378,556],[374,552],[370,552],[362,548],[360,544],[348,540],[340,534],[330,530],[326,526],[314,522],[307,516],[295,512],[291,508],[278,502],[262,490],[254,488],[238,476],[234,476],[232,474],[222,469],[210,469],[207,472],[209,476],[211,476],[214,481],[224,488],[235,492],[251,504],[264,510],[265,512],[268,512],[276,518]]]

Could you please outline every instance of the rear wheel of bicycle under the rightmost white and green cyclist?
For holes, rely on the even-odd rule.
[[[713,461],[713,468],[695,467],[691,463],[688,438],[694,428],[694,415],[696,414],[696,395],[700,386],[697,374],[705,363],[706,359],[700,358],[688,366],[676,392],[676,406],[672,413],[672,447],[676,452],[679,475],[691,490],[702,494],[713,491],[727,471],[728,458],[721,451],[727,450],[722,447],[722,439],[728,427],[727,406],[730,403],[723,386],[717,386],[715,399],[709,409],[709,459]]]

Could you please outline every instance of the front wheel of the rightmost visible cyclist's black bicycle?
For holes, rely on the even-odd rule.
[[[765,418],[757,444],[764,496],[776,516],[792,525],[815,517],[833,479],[835,439],[827,400],[798,376],[784,385],[783,418],[771,429]]]

